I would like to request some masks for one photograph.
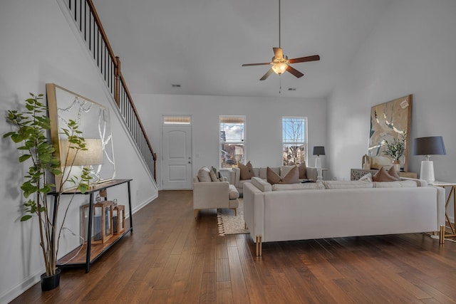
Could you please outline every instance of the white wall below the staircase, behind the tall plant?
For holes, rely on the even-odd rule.
[[[133,178],[133,211],[155,198],[157,189],[130,145],[123,122],[113,113],[113,103],[107,97],[85,46],[74,35],[57,1],[2,0],[0,28],[2,115],[23,104],[29,92],[45,94],[46,83],[56,83],[110,107],[116,177]],[[10,130],[6,120],[0,119],[0,134]],[[39,281],[43,262],[36,223],[19,221],[24,202],[19,186],[24,168],[17,164],[16,146],[3,138],[0,145],[0,303],[6,303]],[[122,199],[125,193],[126,187],[122,186],[108,189],[110,198]],[[78,206],[85,202],[83,196],[76,199],[74,213],[68,220],[68,226],[76,232],[80,223]],[[66,234],[61,254],[66,253],[65,247],[73,241]]]

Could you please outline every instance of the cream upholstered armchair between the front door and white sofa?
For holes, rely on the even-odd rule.
[[[195,219],[202,209],[236,209],[239,206],[239,192],[234,185],[227,182],[226,177],[210,177],[212,170],[207,167],[199,169],[193,177],[193,209]]]

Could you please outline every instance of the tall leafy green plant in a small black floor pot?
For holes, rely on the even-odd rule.
[[[41,275],[41,288],[50,290],[59,284],[60,270],[56,268],[58,241],[74,196],[71,196],[70,202],[64,210],[61,224],[53,225],[53,218],[54,216],[57,218],[60,211],[61,192],[56,195],[54,208],[53,196],[48,198],[48,194],[53,191],[55,184],[48,180],[51,174],[56,176],[63,173],[60,159],[54,155],[56,150],[46,137],[51,128],[51,120],[47,115],[46,105],[41,103],[43,95],[33,95],[32,93],[30,95],[31,98],[25,100],[26,109],[24,111],[9,110],[7,112],[6,120],[14,125],[16,130],[6,133],[4,137],[10,137],[13,142],[20,144],[17,148],[20,152],[19,163],[30,164],[28,172],[24,176],[24,183],[21,185],[24,197],[27,199],[24,203],[25,215],[21,217],[21,221],[28,221],[33,217],[38,218],[36,229],[39,231],[40,246],[46,267],[46,273]],[[68,129],[63,129],[61,134],[68,138],[70,149],[73,149],[74,153],[87,150],[76,121],[71,120],[68,123]],[[66,159],[68,159],[68,154]],[[63,166],[71,166],[71,164],[65,162]],[[88,182],[90,182],[89,173],[88,169],[83,169],[81,177],[72,177],[68,172],[65,174],[66,176],[62,177],[60,184],[63,186],[64,183],[71,182],[79,192],[87,192]],[[63,189],[63,187],[58,189]]]

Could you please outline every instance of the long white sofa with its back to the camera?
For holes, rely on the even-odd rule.
[[[404,187],[410,182],[415,187]],[[352,183],[361,182],[276,184],[275,189],[276,185],[256,177],[244,183],[244,221],[257,245],[257,256],[261,256],[261,243],[271,241],[440,231],[443,242],[442,188],[420,187],[427,183],[415,179],[370,182],[359,189]],[[318,184],[323,189],[316,189]],[[327,189],[331,184],[350,188]]]

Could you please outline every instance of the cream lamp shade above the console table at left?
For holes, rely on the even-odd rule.
[[[69,148],[70,142],[68,140],[61,140],[62,165],[88,166],[91,164],[103,164],[103,145],[101,140],[98,138],[86,138],[85,143],[87,150],[78,151],[76,154],[76,149]],[[67,154],[68,158],[66,158]]]

